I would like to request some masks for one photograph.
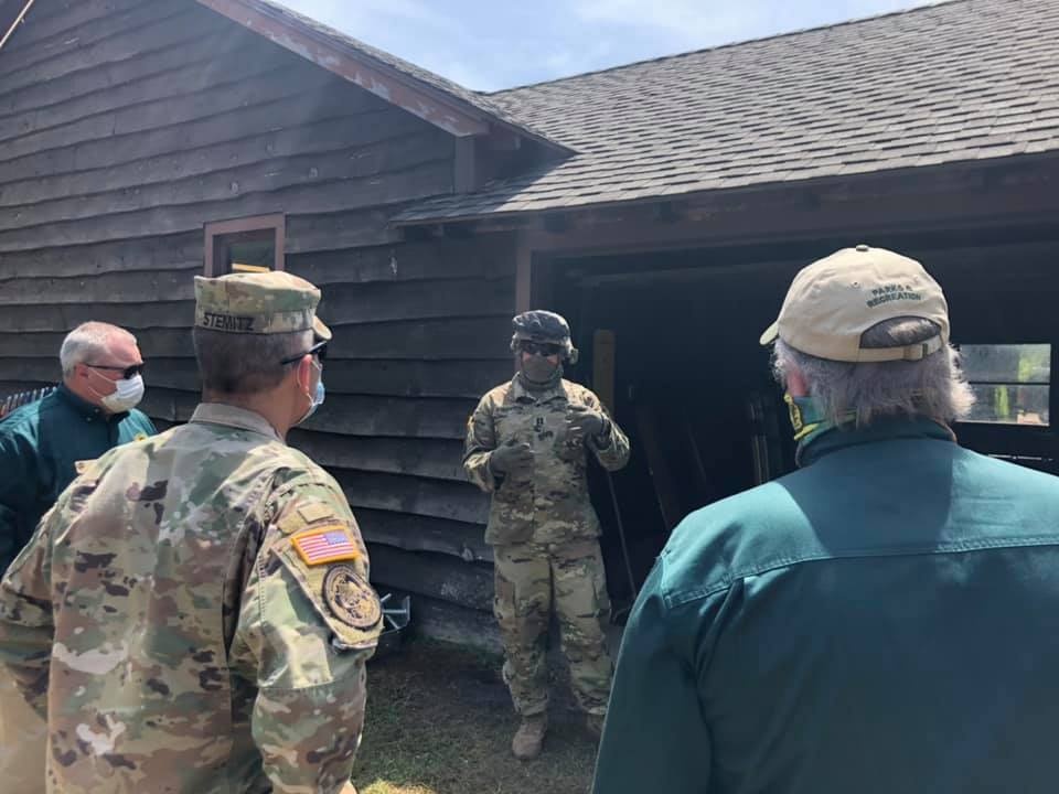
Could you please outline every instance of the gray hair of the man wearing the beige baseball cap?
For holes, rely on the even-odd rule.
[[[926,342],[938,326],[921,318],[897,318],[868,329],[864,348],[899,347]],[[796,351],[777,340],[773,371],[780,383],[796,369],[826,420],[836,425],[856,417],[858,427],[886,416],[923,416],[949,422],[971,410],[974,395],[952,346],[920,361],[853,364],[826,361]]]

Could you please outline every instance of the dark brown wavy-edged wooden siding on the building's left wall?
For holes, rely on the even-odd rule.
[[[203,224],[287,215],[319,285],[328,401],[296,446],[344,486],[378,583],[488,607],[466,419],[510,374],[510,237],[403,243],[451,192],[453,139],[191,0],[41,2],[0,53],[0,394],[58,378],[65,332],[130,329],[146,410],[184,421]],[[467,613],[470,624],[473,614]]]

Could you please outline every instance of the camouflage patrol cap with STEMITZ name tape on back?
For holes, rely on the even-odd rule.
[[[317,316],[320,290],[279,270],[195,277],[195,325],[210,331],[274,334],[309,331],[330,340]]]

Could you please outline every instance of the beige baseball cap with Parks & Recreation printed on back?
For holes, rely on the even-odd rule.
[[[864,332],[886,320],[921,318],[940,333],[903,347],[863,348]],[[844,248],[803,268],[761,344],[841,362],[919,361],[949,343],[949,305],[941,287],[914,259],[885,248]]]

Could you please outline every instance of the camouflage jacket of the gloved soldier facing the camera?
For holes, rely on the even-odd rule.
[[[463,468],[483,491],[493,494],[485,541],[561,543],[599,535],[599,519],[588,495],[585,443],[567,442],[569,406],[607,409],[589,389],[569,380],[543,393],[526,390],[516,375],[482,397],[468,421]],[[587,446],[608,471],[629,460],[629,439],[609,417],[599,439]],[[526,478],[498,476],[489,465],[492,451],[506,443],[533,447],[533,471]]]

